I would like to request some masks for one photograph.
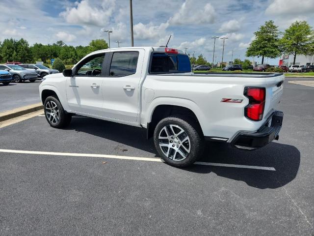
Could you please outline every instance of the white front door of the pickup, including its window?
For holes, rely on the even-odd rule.
[[[74,112],[104,116],[103,64],[105,53],[84,59],[67,78],[66,93],[70,109]]]

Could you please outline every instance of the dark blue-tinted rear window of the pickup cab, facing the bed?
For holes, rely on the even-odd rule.
[[[190,72],[191,64],[187,55],[154,53],[152,55],[150,73],[182,73]]]

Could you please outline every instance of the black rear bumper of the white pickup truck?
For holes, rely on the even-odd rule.
[[[279,131],[282,127],[283,118],[284,113],[276,111],[257,132],[240,132],[235,136],[231,144],[235,146],[235,148],[246,150],[262,148],[274,139],[279,139]]]

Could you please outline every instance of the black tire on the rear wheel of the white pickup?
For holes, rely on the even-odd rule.
[[[190,151],[186,155],[185,159],[183,159],[183,160],[172,160],[173,157],[170,158],[167,155],[165,155],[163,153],[163,150],[159,146],[159,138],[158,138],[159,133],[162,132],[161,130],[167,125],[178,125],[178,126],[180,126],[184,130],[183,135],[184,136],[187,135],[189,138]],[[179,137],[179,135],[178,135],[178,137]],[[182,138],[180,137],[179,140],[182,140]],[[170,145],[170,142],[171,142],[171,140],[169,141],[169,145]],[[186,116],[173,116],[173,117],[163,118],[162,120],[160,120],[158,122],[158,124],[155,128],[155,131],[154,131],[154,144],[155,144],[155,148],[156,148],[159,156],[166,163],[168,163],[172,166],[175,166],[175,167],[186,167],[186,166],[189,166],[189,165],[193,164],[194,162],[196,162],[198,160],[198,158],[202,156],[203,150],[204,150],[204,137],[203,137],[203,134],[202,134],[202,131],[201,131],[199,124],[193,118],[189,118]],[[181,145],[183,145],[183,144],[181,144]],[[172,150],[174,150],[174,149],[172,149]],[[173,152],[173,151],[171,151],[171,152]],[[170,154],[170,152],[169,152],[169,154]],[[179,154],[179,155],[182,156],[181,154]],[[177,156],[177,154],[175,154],[175,159],[176,159],[176,156]]]

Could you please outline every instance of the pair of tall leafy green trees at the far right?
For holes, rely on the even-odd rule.
[[[266,21],[254,35],[246,56],[262,57],[262,64],[264,58],[274,59],[283,54],[292,54],[295,64],[297,55],[314,54],[314,31],[306,21],[295,21],[285,32],[280,32],[273,21]]]

